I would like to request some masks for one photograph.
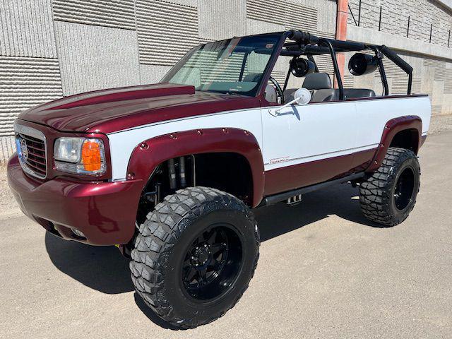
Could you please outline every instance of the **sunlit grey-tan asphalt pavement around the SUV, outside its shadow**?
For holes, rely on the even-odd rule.
[[[393,228],[368,222],[347,184],[256,210],[249,289],[188,331],[145,307],[114,247],[0,213],[0,338],[452,338],[452,132],[429,136],[420,162],[415,210]]]

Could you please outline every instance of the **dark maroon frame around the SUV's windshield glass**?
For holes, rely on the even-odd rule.
[[[197,90],[197,91],[206,92],[206,93],[244,95],[244,96],[249,96],[249,97],[257,97],[257,96],[261,95],[262,88],[265,88],[263,86],[263,84],[268,82],[268,78],[270,78],[271,71],[273,70],[273,67],[275,66],[276,60],[278,59],[281,49],[283,49],[283,45],[284,45],[284,42],[286,40],[286,35],[287,35],[286,33],[287,32],[268,32],[268,33],[262,33],[262,34],[256,34],[256,35],[244,35],[242,37],[233,37],[230,39],[215,41],[215,42],[223,42],[223,41],[226,42],[227,40],[232,40],[232,39],[242,39],[244,37],[261,37],[264,35],[278,37],[277,42],[275,42],[275,47],[273,47],[273,51],[270,54],[270,58],[267,61],[266,67],[263,70],[262,76],[261,76],[260,80],[256,83],[256,86],[254,86],[253,89],[249,90],[248,92],[223,92],[223,91],[215,91],[215,90]],[[210,43],[212,43],[212,42],[207,42],[206,44],[210,44]],[[184,55],[184,57],[182,57],[182,59],[177,61],[177,63],[174,64],[174,66],[172,66],[172,69],[170,69],[168,71],[168,73],[162,78],[160,83],[169,83],[169,79],[171,79],[177,73],[177,71],[182,69],[182,66],[184,64],[186,64],[186,61],[188,61],[189,58],[191,58],[191,56],[194,54],[194,52],[196,50],[200,49],[200,47],[205,46],[206,44],[199,44],[199,45],[191,48],[189,50],[189,52],[187,52]],[[246,57],[244,57],[244,62],[245,61],[246,61]],[[242,71],[243,71],[243,69],[241,69],[240,78],[242,78]]]

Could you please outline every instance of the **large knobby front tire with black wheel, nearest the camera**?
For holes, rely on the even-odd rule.
[[[182,189],[139,227],[133,285],[160,318],[194,328],[234,307],[254,275],[258,248],[256,221],[242,201],[216,189]]]

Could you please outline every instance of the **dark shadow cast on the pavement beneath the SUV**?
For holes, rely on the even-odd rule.
[[[267,208],[254,210],[261,233],[261,242],[292,232],[329,215],[356,222],[361,225],[377,227],[359,209],[358,189],[342,184],[303,196],[302,203],[287,206],[278,203]],[[133,291],[129,273],[129,260],[121,256],[114,246],[88,246],[78,242],[68,242],[47,233],[45,246],[49,257],[61,272],[78,280],[83,285],[104,292],[117,294]],[[134,293],[136,305],[150,321],[162,328],[173,328],[162,321]]]

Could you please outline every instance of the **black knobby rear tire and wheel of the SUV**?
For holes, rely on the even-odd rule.
[[[400,191],[400,177],[408,178],[405,198],[396,193]],[[359,203],[369,220],[381,227],[393,227],[408,218],[419,188],[420,165],[415,153],[405,148],[388,148],[381,167],[359,186]]]

